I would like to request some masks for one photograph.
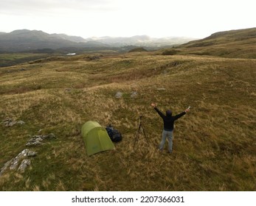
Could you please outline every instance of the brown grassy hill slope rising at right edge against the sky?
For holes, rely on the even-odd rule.
[[[256,28],[217,32],[210,37],[193,40],[167,49],[164,54],[196,54],[216,57],[256,59]]]

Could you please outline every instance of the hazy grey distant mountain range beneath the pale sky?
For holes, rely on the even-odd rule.
[[[187,43],[192,38],[151,38],[146,35],[131,38],[81,38],[63,34],[47,34],[37,30],[21,29],[10,33],[0,32],[0,52],[18,52],[56,49],[108,49],[122,46],[145,46],[164,48],[165,46]],[[47,50],[48,49],[48,50]]]

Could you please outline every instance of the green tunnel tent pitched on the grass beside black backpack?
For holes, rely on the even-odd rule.
[[[114,143],[109,138],[108,132],[97,121],[86,121],[83,124],[82,137],[89,156],[97,152],[114,149]]]

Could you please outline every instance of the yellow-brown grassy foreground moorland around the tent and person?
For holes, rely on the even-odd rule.
[[[255,67],[252,59],[143,52],[0,68],[0,121],[25,122],[0,124],[0,168],[30,136],[56,136],[31,148],[38,155],[27,171],[6,171],[0,190],[255,191]],[[162,120],[151,102],[174,114],[192,107],[176,121],[173,154],[167,144],[156,149]],[[150,144],[141,135],[134,147],[141,115]],[[86,155],[80,128],[89,120],[122,132],[114,151]]]

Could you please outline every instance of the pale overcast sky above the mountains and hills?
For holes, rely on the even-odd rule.
[[[205,38],[256,27],[255,0],[0,0],[0,32]]]

